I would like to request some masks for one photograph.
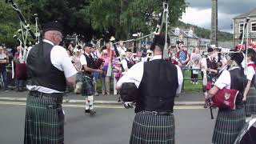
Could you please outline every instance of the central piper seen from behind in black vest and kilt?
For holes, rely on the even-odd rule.
[[[174,97],[181,91],[183,76],[179,66],[162,59],[164,45],[165,38],[155,36],[152,60],[138,62],[118,81],[117,89],[132,82],[139,93],[130,144],[175,141]]]

